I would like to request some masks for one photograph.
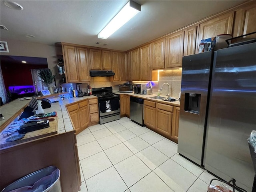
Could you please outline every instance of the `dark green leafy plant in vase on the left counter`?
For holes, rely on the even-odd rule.
[[[38,76],[42,79],[40,81],[44,82],[44,85],[48,87],[51,94],[54,93],[54,75],[52,75],[52,70],[49,68],[42,69],[38,72]]]

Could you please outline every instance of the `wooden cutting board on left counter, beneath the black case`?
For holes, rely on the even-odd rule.
[[[15,145],[15,144],[19,144],[19,143],[22,143],[22,142],[35,140],[35,139],[50,136],[50,135],[53,135],[53,134],[57,134],[58,133],[58,116],[49,118],[48,120],[49,120],[50,127],[40,129],[40,130],[36,130],[36,131],[32,131],[32,132],[28,132],[28,133],[26,133],[24,138],[22,138],[20,140],[16,140],[16,141],[13,141],[13,142],[6,142],[6,139],[9,138],[9,137],[6,137],[6,138],[1,137],[0,148]],[[6,129],[7,128],[8,128],[8,126],[6,127]]]

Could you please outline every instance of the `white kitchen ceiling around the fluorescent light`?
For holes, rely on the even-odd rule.
[[[108,39],[98,33],[126,4],[127,0],[37,0],[19,1],[24,10],[12,10],[0,2],[2,39],[14,39],[44,44],[68,42],[115,50],[129,50],[154,38],[177,30],[202,18],[231,8],[243,1],[151,1],[137,0],[141,12]],[[36,38],[26,38],[26,34]]]

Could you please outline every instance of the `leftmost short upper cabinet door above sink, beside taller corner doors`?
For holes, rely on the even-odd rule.
[[[151,66],[152,69],[164,69],[165,39],[151,43]]]

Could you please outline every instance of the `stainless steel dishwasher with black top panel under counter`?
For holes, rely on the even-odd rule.
[[[130,119],[143,126],[143,102],[144,99],[130,97]]]

